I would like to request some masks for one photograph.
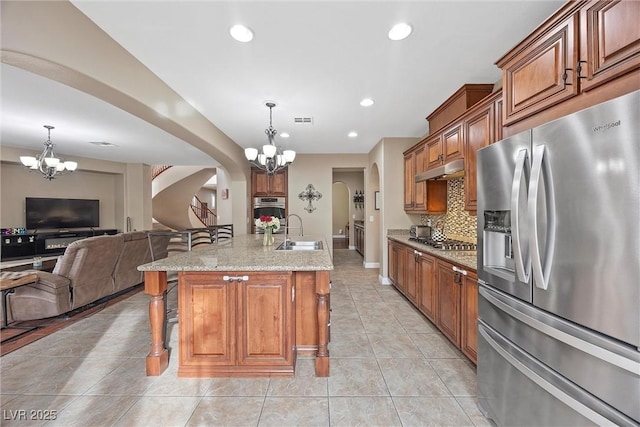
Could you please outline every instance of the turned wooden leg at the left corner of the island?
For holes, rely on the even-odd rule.
[[[151,296],[149,322],[151,324],[151,351],[147,355],[147,376],[162,374],[169,366],[169,351],[165,346],[167,272],[145,271],[144,292]]]

